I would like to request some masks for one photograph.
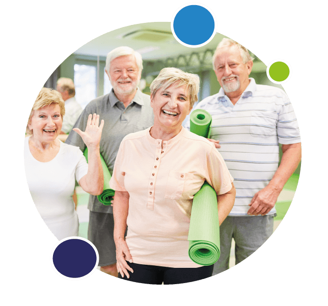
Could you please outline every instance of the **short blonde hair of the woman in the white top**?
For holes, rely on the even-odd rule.
[[[35,102],[34,102],[33,106],[32,106],[32,110],[31,110],[31,113],[30,113],[28,124],[26,125],[26,134],[28,134],[28,135],[33,134],[33,131],[31,131],[30,128],[29,128],[29,124],[31,122],[31,118],[34,114],[34,111],[37,110],[37,109],[40,109],[44,106],[48,106],[52,103],[59,104],[59,107],[61,109],[60,110],[61,116],[62,116],[62,118],[64,117],[64,115],[65,115],[65,102],[62,98],[62,95],[56,90],[53,90],[53,89],[50,89],[50,88],[42,88],[40,90],[37,98],[35,99]]]

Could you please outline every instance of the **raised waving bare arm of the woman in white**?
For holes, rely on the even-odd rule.
[[[100,161],[100,138],[104,125],[104,121],[101,120],[99,125],[99,115],[90,114],[88,117],[88,123],[86,131],[83,132],[78,128],[73,130],[77,132],[83,139],[84,143],[88,147],[88,173],[79,180],[79,185],[86,192],[97,196],[103,191],[103,171]]]

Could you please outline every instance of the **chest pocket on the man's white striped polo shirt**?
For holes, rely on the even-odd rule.
[[[277,121],[276,112],[255,110],[252,112],[250,133],[256,137],[277,135]]]

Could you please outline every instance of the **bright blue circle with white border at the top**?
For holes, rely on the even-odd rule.
[[[210,39],[215,29],[215,22],[206,8],[189,5],[176,14],[173,29],[182,42],[195,46]]]

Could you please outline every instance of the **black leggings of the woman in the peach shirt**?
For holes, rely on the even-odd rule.
[[[126,275],[124,275],[124,277],[119,275],[119,277],[126,281],[150,285],[161,285],[162,283],[164,283],[164,285],[176,285],[207,279],[207,277],[212,275],[214,266],[169,268],[129,262],[127,264],[133,269],[133,273],[128,271],[130,278],[128,279]]]

